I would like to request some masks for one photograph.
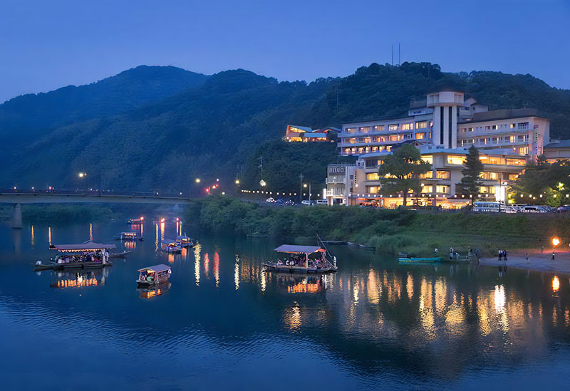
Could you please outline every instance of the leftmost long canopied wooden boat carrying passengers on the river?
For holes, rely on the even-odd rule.
[[[63,270],[63,269],[87,269],[113,266],[109,261],[109,249],[115,248],[114,244],[100,244],[86,241],[82,244],[54,244],[49,247],[58,251],[55,259],[48,264],[36,262],[36,271],[40,270]]]

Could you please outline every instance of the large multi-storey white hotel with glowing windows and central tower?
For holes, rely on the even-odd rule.
[[[509,184],[527,161],[536,160],[545,151],[549,137],[549,120],[538,117],[537,110],[489,111],[473,98],[464,100],[460,92],[431,93],[423,102],[410,104],[405,118],[343,125],[338,150],[341,155],[356,155],[358,160],[356,165],[346,166],[344,176],[335,171],[340,170],[339,165],[329,166],[328,204],[403,204],[401,197],[382,194],[378,177],[378,165],[403,143],[418,147],[423,160],[432,165],[421,178],[420,204],[462,207],[469,202],[457,184],[471,145],[480,151],[483,162],[482,197],[506,201]],[[408,204],[412,202],[408,199]]]

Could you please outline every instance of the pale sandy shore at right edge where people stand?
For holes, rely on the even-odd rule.
[[[537,271],[554,271],[557,273],[570,274],[570,251],[569,250],[556,250],[554,253],[554,261],[552,258],[552,249],[528,249],[528,250],[513,250],[507,249],[507,261],[499,261],[499,257],[482,258],[481,265],[489,266],[511,266],[517,269],[530,269]],[[529,261],[527,262],[527,255],[529,254]]]

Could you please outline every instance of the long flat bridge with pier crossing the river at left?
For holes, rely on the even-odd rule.
[[[4,190],[0,192],[0,204],[13,204],[12,228],[22,227],[21,204],[63,204],[63,203],[108,203],[108,204],[190,204],[191,199],[182,194],[128,193],[115,192],[80,192],[80,191],[38,191],[18,192]]]

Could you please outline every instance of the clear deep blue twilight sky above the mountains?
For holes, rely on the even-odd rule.
[[[398,42],[402,62],[570,88],[569,20],[568,0],[0,0],[0,103],[141,64],[344,76]]]

